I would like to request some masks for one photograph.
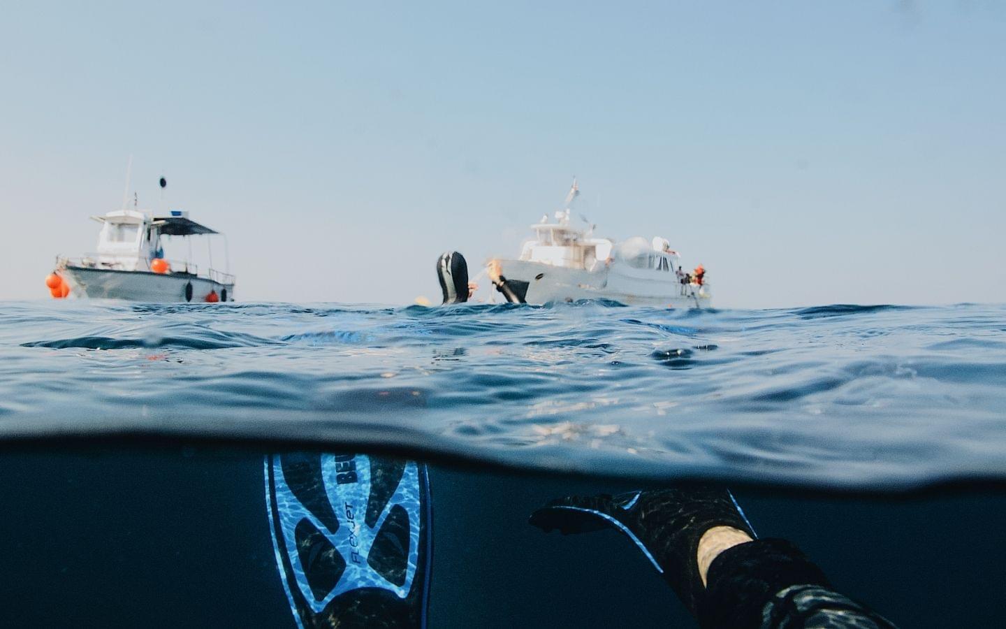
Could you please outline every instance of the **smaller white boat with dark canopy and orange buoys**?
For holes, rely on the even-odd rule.
[[[56,269],[45,281],[53,297],[143,302],[234,300],[234,276],[212,268],[199,273],[188,261],[164,258],[164,237],[217,233],[189,218],[188,212],[172,209],[167,215],[154,215],[149,210],[124,207],[92,218],[102,223],[98,251],[79,258],[56,258]]]

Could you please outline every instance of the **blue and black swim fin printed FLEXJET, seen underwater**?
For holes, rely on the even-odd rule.
[[[361,454],[266,459],[277,565],[301,627],[425,627],[426,468]]]

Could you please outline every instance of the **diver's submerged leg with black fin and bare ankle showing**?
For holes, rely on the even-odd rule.
[[[792,542],[759,537],[724,487],[566,496],[549,501],[528,521],[545,532],[625,533],[703,629],[894,627],[836,592]]]

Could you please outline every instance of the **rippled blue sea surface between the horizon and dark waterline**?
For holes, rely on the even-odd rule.
[[[0,308],[0,438],[893,490],[1006,474],[1006,307]]]

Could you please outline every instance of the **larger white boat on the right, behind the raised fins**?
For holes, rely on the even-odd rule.
[[[531,225],[534,238],[524,243],[516,260],[498,264],[507,283],[529,304],[579,299],[611,299],[629,305],[666,308],[709,308],[712,295],[705,270],[686,273],[677,252],[663,238],[632,238],[621,243],[594,238],[594,226],[577,229],[569,222],[569,205],[578,194],[576,182],[564,210],[552,220],[544,215]]]

